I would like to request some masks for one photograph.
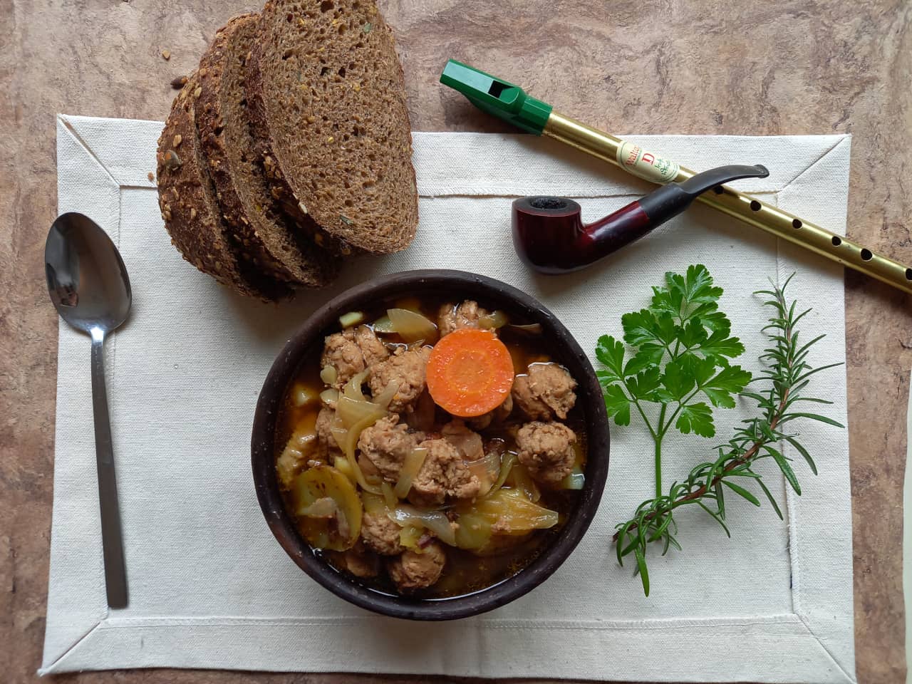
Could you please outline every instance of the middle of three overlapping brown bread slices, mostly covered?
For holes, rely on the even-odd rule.
[[[326,285],[338,273],[338,257],[316,244],[314,230],[287,222],[254,151],[244,70],[258,20],[257,14],[233,17],[202,57],[195,108],[202,150],[223,219],[251,235],[267,275],[294,285]]]

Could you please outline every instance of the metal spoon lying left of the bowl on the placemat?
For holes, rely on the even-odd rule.
[[[51,225],[45,244],[45,275],[57,313],[92,337],[92,412],[105,586],[108,605],[122,608],[127,606],[127,572],[102,353],[105,337],[130,314],[130,277],[108,233],[81,213],[65,213]]]

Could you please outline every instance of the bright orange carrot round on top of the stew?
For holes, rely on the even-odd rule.
[[[428,391],[460,418],[496,409],[513,389],[513,359],[490,330],[463,328],[441,337],[428,360]]]

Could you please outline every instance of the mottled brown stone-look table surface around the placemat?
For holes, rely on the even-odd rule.
[[[41,254],[57,207],[54,115],[163,119],[171,78],[196,65],[225,19],[255,8],[242,0],[0,0],[4,682],[35,679],[45,628],[57,316]],[[851,132],[848,233],[912,262],[908,0],[381,0],[381,8],[396,30],[415,130],[504,130],[437,84],[443,63],[455,57],[617,134]],[[901,530],[912,300],[853,273],[845,276],[845,298],[857,672],[865,684],[899,682],[906,669]],[[134,670],[60,679],[401,678]]]

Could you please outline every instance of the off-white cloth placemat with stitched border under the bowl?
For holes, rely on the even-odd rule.
[[[612,430],[596,521],[554,576],[492,613],[446,624],[378,617],[317,586],[275,543],[254,495],[249,442],[267,369],[309,312],[372,275],[450,267],[517,285],[593,350],[619,316],[644,306],[667,270],[707,264],[757,370],[767,316],[751,292],[797,275],[790,294],[826,332],[815,365],[845,359],[842,269],[703,206],[581,273],[533,275],[513,253],[513,197],[582,198],[593,220],[648,189],[549,140],[416,133],[420,229],[402,254],[349,264],[337,285],[283,306],[235,296],[182,261],[165,233],[149,172],[161,123],[61,116],[59,211],[87,213],[118,244],[134,311],[108,345],[109,403],[130,606],[103,587],[88,339],[60,326],[57,446],[42,673],[101,668],[367,671],[483,677],[662,681],[855,682],[852,518],[846,430],[801,426],[820,475],[799,464],[803,496],[769,469],[786,521],[729,503],[733,538],[682,513],[683,553],[650,560],[652,594],[610,544],[615,523],[652,487],[645,430]],[[745,192],[834,231],[845,228],[848,136],[633,136],[706,169],[763,163]],[[845,373],[814,393],[845,422]],[[723,436],[749,407],[728,411]],[[674,440],[668,480],[709,442]],[[800,459],[799,459],[800,461]],[[751,510],[748,510],[751,509]],[[682,522],[684,522],[682,520]]]

